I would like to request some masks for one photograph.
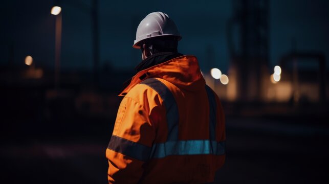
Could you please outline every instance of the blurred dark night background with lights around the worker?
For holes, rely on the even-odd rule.
[[[329,183],[328,10],[325,0],[2,1],[0,182],[107,182],[117,95],[141,62],[136,29],[162,11],[222,100],[216,183]]]

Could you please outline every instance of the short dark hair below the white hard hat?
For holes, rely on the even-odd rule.
[[[149,38],[143,41],[142,44],[146,44],[146,47],[152,52],[152,54],[160,52],[178,52],[177,36],[158,36],[154,38]],[[141,47],[141,49],[142,48],[143,47]]]

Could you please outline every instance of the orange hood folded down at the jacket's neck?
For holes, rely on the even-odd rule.
[[[131,78],[130,84],[119,96],[126,95],[131,88],[147,78],[162,78],[188,91],[203,89],[206,84],[196,57],[183,55],[140,71]]]

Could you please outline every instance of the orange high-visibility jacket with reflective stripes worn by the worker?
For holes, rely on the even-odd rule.
[[[206,183],[225,162],[225,117],[198,60],[183,55],[135,75],[106,149],[109,183]]]

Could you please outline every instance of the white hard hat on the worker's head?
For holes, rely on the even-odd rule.
[[[158,36],[177,36],[178,40],[182,39],[176,24],[167,14],[153,12],[148,14],[139,24],[133,48],[140,49],[139,43],[142,40]]]

